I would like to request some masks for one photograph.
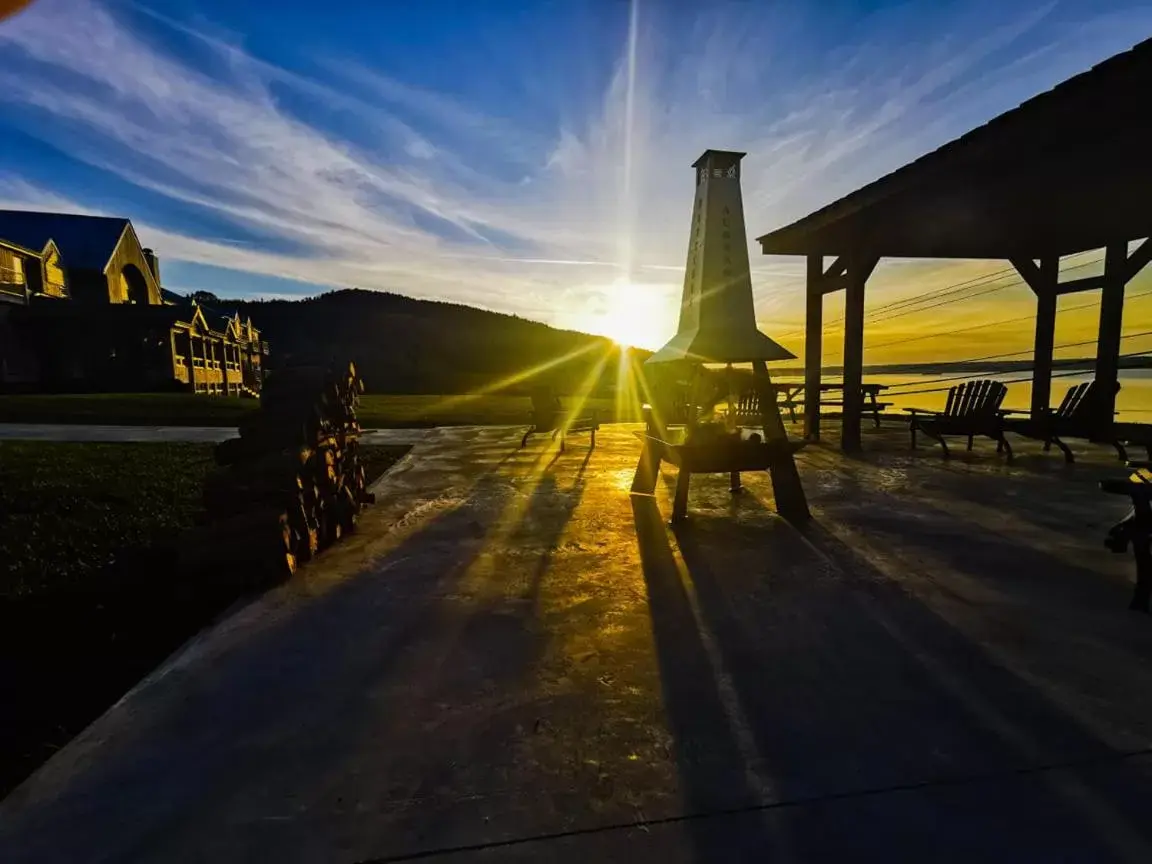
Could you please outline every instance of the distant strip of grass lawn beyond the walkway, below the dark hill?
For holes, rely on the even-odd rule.
[[[590,399],[585,407],[606,423],[639,419],[636,406],[617,416],[613,399]],[[9,395],[0,396],[0,423],[235,426],[256,408],[256,400],[187,393]],[[526,424],[530,409],[526,396],[370,394],[362,396],[358,414],[365,429],[486,426]]]

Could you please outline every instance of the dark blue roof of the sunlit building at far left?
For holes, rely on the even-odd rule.
[[[28,249],[44,249],[53,240],[68,268],[103,271],[128,226],[121,217],[0,210],[0,237]]]

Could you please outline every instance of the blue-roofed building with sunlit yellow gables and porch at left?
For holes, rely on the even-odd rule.
[[[255,395],[267,353],[165,289],[129,219],[0,210],[0,388]]]

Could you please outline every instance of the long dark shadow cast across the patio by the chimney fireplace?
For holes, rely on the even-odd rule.
[[[685,809],[756,802],[750,771],[773,801],[810,802],[726,835],[727,859],[775,847],[803,861],[861,848],[1100,861],[1152,836],[1146,774],[818,524],[802,536],[741,503],[744,518],[695,516],[675,538],[755,742],[750,764],[655,502],[632,506]],[[1107,765],[1107,783],[1029,773],[1068,761]]]

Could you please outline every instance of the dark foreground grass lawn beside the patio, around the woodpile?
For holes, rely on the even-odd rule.
[[[365,446],[370,480],[407,449]],[[236,600],[172,567],[211,465],[204,444],[0,441],[0,797]]]

